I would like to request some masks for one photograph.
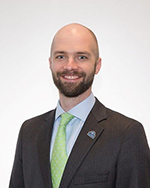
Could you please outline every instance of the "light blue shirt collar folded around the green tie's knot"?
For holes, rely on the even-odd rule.
[[[74,106],[72,109],[70,109],[68,113],[74,115],[75,117],[81,119],[82,121],[85,121],[91,109],[93,108],[94,104],[95,104],[95,97],[93,93],[91,93],[89,97],[87,97],[85,100],[83,100],[82,102]],[[60,102],[58,101],[55,120],[63,113],[66,112],[63,110],[63,108],[60,105]]]

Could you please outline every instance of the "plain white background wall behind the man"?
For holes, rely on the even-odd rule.
[[[8,187],[24,120],[55,108],[48,66],[52,37],[78,22],[100,44],[93,92],[107,107],[140,121],[150,143],[149,0],[3,0],[0,2],[0,187]]]

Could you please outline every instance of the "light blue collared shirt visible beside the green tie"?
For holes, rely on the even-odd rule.
[[[73,145],[83,127],[83,124],[87,116],[89,115],[91,109],[93,108],[94,104],[95,104],[95,97],[93,93],[91,93],[91,95],[88,98],[86,98],[84,101],[77,104],[76,106],[74,106],[72,109],[68,111],[68,113],[75,116],[66,126],[66,148],[67,148],[68,156],[70,155]],[[61,119],[60,116],[63,113],[66,113],[66,112],[62,109],[58,101],[56,114],[55,114],[52,140],[51,140],[50,158],[52,155],[53,145],[54,145],[55,137],[56,137],[60,119]]]

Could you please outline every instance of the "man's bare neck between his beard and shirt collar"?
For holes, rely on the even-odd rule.
[[[91,94],[91,89],[85,91],[83,94],[77,97],[66,97],[59,92],[61,107],[67,112],[71,108],[73,108],[74,106],[85,100],[87,97],[89,97],[90,94]]]

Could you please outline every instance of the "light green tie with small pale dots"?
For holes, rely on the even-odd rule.
[[[66,125],[74,116],[69,113],[61,115],[61,121],[55,138],[52,158],[51,158],[51,174],[53,188],[58,188],[61,177],[67,162],[66,152]]]

